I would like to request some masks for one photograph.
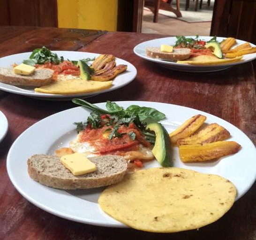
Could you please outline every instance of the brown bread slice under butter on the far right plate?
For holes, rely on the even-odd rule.
[[[161,52],[160,47],[146,47],[146,54],[148,57],[168,61],[188,59],[190,52],[189,48],[173,48],[173,52]]]

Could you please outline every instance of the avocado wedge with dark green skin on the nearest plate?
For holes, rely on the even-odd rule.
[[[155,158],[163,167],[173,166],[171,141],[166,129],[158,122],[148,124],[147,129],[156,134],[156,142],[152,149]]]

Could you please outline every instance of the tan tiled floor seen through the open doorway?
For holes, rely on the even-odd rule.
[[[181,6],[182,7],[182,6]],[[181,8],[182,9],[182,8]],[[184,10],[184,9],[182,9]],[[193,9],[191,9],[193,11]],[[199,10],[200,11],[200,10]],[[153,14],[144,10],[142,32],[164,35],[210,36],[211,22],[188,23],[166,15],[158,15],[158,23],[153,23]]]

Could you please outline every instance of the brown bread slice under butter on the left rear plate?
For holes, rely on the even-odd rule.
[[[15,74],[12,67],[0,67],[0,82],[17,86],[40,87],[52,82],[53,70],[36,69],[31,75]]]

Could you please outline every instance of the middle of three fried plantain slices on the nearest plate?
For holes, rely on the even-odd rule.
[[[212,123],[194,135],[178,139],[177,145],[213,143],[229,137],[229,131],[217,123]]]

